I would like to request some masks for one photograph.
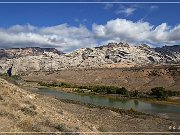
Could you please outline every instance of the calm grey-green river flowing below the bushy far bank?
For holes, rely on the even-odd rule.
[[[57,91],[53,88],[39,88],[37,93],[49,96],[55,96],[59,99],[73,100],[82,103],[90,103],[94,105],[114,107],[117,109],[129,110],[131,108],[139,112],[156,114],[171,120],[180,121],[180,106],[170,104],[158,104],[137,99],[119,99],[93,95],[81,95],[75,93],[67,93]]]

